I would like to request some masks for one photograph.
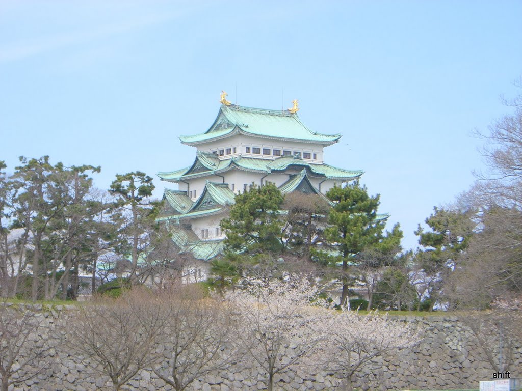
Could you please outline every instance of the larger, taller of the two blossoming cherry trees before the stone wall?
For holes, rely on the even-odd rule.
[[[302,364],[326,338],[331,313],[318,295],[317,288],[300,276],[288,282],[254,282],[226,296],[240,314],[243,329],[237,343],[265,371],[269,391],[276,374]]]

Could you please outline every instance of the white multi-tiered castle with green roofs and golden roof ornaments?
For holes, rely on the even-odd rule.
[[[171,229],[182,252],[208,261],[222,250],[220,221],[235,194],[255,184],[274,183],[281,193],[324,194],[334,185],[358,179],[360,170],[324,163],[324,149],[341,135],[307,128],[297,114],[298,101],[285,111],[233,105],[221,94],[221,106],[210,128],[180,136],[196,147],[192,165],[158,176],[178,185],[165,189],[164,210],[158,221]]]

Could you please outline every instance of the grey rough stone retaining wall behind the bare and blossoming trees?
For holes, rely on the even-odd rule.
[[[111,389],[108,377],[100,375],[81,357],[69,355],[54,325],[63,322],[74,306],[34,306],[40,335],[31,335],[33,348],[44,346],[43,359],[33,363],[43,370],[15,390],[97,390]],[[363,368],[354,387],[371,389],[469,389],[478,388],[479,380],[489,380],[493,369],[484,358],[473,335],[455,316],[400,316],[401,321],[417,324],[423,333],[421,343],[413,349],[395,352]],[[45,341],[45,344],[43,344]],[[1,348],[1,347],[0,347]],[[522,348],[515,351],[511,377],[522,377]],[[275,378],[275,389],[326,390],[342,386],[342,374],[317,371],[313,376],[286,371]],[[10,389],[13,389],[11,387]],[[122,389],[171,390],[152,371],[142,370]],[[230,365],[193,383],[190,390],[239,391],[266,389],[264,374],[257,365],[243,362]]]

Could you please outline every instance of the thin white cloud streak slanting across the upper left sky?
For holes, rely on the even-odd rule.
[[[0,47],[0,63],[9,63],[51,52],[62,47],[73,46],[93,40],[99,40],[110,35],[117,35],[127,31],[148,26],[158,25],[175,19],[178,15],[152,15],[141,17],[139,20],[127,21],[118,25],[106,25],[95,30],[76,31],[67,35],[54,35],[30,41],[20,41]]]

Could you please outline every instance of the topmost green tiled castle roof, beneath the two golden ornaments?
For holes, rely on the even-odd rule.
[[[341,135],[317,133],[301,123],[297,114],[288,111],[222,105],[210,129],[194,136],[180,136],[185,144],[198,144],[229,137],[236,133],[273,139],[333,144]]]

